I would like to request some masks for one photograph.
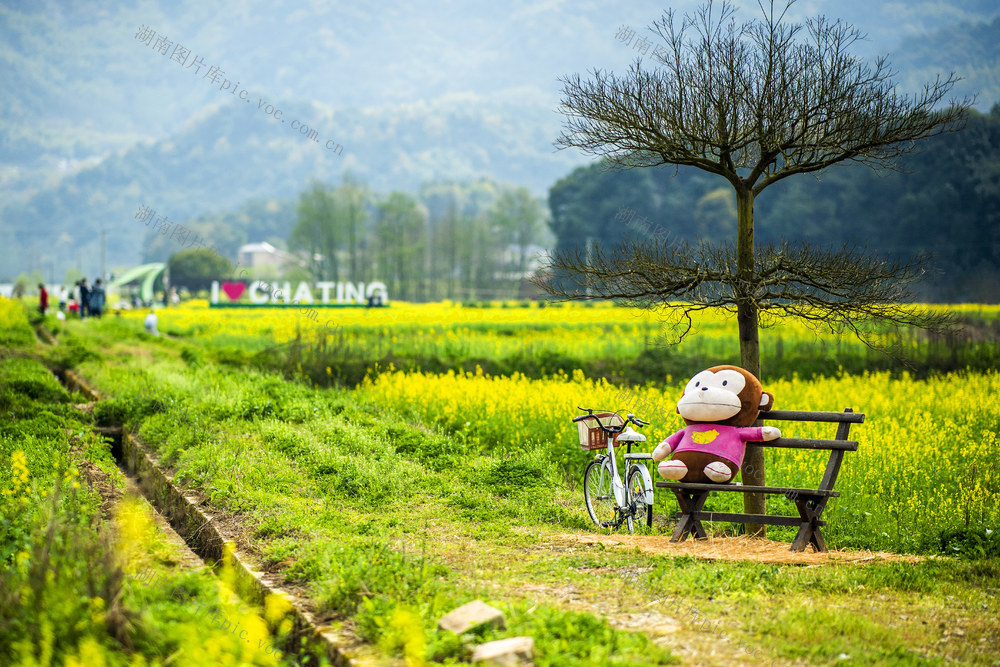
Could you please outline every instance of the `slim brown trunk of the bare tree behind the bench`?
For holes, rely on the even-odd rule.
[[[753,238],[753,191],[743,185],[736,189],[736,217],[738,221],[736,240],[736,321],[740,330],[740,364],[760,378],[760,337],[757,329],[757,303],[754,301],[755,263]],[[759,424],[755,424],[759,425]],[[747,445],[743,458],[743,483],[764,486],[764,450],[756,445]],[[765,497],[762,493],[743,495],[743,511],[747,514],[765,514]],[[767,527],[762,524],[747,524],[748,535],[767,535]]]

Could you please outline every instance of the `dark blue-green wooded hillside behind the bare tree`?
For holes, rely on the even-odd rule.
[[[718,176],[694,167],[581,167],[549,191],[556,247],[611,245],[659,226],[675,242],[732,238],[736,197]],[[758,199],[761,244],[808,241],[865,248],[889,259],[921,255],[918,298],[1000,300],[1000,104],[969,111],[966,127],[921,142],[895,170],[859,164],[776,183]],[[627,216],[622,211],[628,212]]]

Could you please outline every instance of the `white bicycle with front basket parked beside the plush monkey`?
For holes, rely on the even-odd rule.
[[[577,409],[588,413],[573,418],[580,431],[580,448],[584,451],[606,450],[596,455],[583,473],[583,497],[590,518],[599,528],[618,528],[625,523],[631,533],[634,520],[641,521],[645,514],[646,526],[652,526],[653,480],[646,465],[637,461],[652,460],[653,455],[632,453],[632,444],[646,442],[646,436],[636,433],[629,426],[631,422],[641,428],[649,426],[649,422],[638,419],[632,413],[623,420],[614,412],[595,414],[591,408]],[[626,443],[624,484],[614,450],[623,442]]]

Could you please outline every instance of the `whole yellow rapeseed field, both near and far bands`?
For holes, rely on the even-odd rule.
[[[606,302],[479,306],[393,302],[388,308],[300,312],[211,309],[196,301],[159,315],[161,330],[206,349],[254,352],[291,341],[323,348],[327,354],[294,357],[286,370],[330,384],[354,364],[361,370],[360,401],[433,425],[463,450],[514,454],[529,448],[560,466],[569,485],[579,483],[589,456],[570,423],[578,406],[631,411],[651,421],[646,433],[652,449],[683,425],[674,406],[687,373],[739,362],[734,318],[721,311],[698,313],[689,337],[665,347],[663,338],[672,333],[655,311]],[[950,310],[980,332],[1000,320],[998,306]],[[319,315],[312,319],[312,313]],[[121,315],[136,330],[143,316]],[[948,346],[957,345],[945,340],[935,348],[919,332],[885,334],[903,348],[923,349],[927,358],[951,354]],[[850,406],[867,415],[852,429],[860,448],[845,458],[837,483],[842,496],[824,515],[831,544],[937,551],[946,531],[1000,530],[1000,479],[991,464],[1000,430],[995,341],[963,348],[978,360],[977,368],[922,376],[855,339],[817,333],[797,321],[762,330],[762,344],[764,385],[779,409]],[[893,370],[864,370],[870,359]],[[833,437],[832,426],[828,432],[823,425],[782,428],[790,436]],[[815,487],[826,464],[822,452],[765,451],[769,483]],[[718,495],[725,497],[710,499],[709,509],[740,508],[737,494]],[[772,513],[795,514],[783,498],[768,502]],[[673,498],[664,494],[657,507],[674,511]],[[782,529],[772,530],[780,535]]]

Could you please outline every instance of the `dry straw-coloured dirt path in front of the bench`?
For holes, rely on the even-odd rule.
[[[515,529],[515,532],[522,532]],[[432,549],[448,566],[469,581],[485,589],[488,598],[510,601],[527,601],[529,604],[551,604],[581,613],[605,618],[614,628],[639,632],[651,641],[667,647],[684,665],[710,667],[736,667],[771,664],[766,638],[754,637],[739,629],[729,632],[713,631],[701,627],[701,622],[691,615],[698,609],[711,617],[713,622],[733,618],[736,610],[720,608],[717,603],[704,598],[666,599],[648,592],[642,577],[651,567],[628,565],[623,561],[615,566],[573,567],[566,573],[554,572],[551,563],[567,556],[586,556],[595,551],[634,552],[662,556],[691,556],[706,561],[745,561],[778,565],[799,565],[805,568],[830,567],[855,564],[865,567],[885,562],[918,562],[919,556],[878,553],[871,551],[839,550],[815,553],[809,550],[790,551],[790,543],[745,536],[718,537],[707,540],[686,540],[671,543],[667,535],[628,535],[621,533],[537,534],[532,544],[502,547],[496,543],[480,548],[475,540],[466,540],[453,534],[444,525],[430,522],[425,538],[437,545]],[[419,549],[419,543],[409,543],[406,549]],[[512,566],[508,566],[510,563]],[[519,563],[519,566],[514,566]],[[537,573],[537,574],[535,574]],[[592,579],[596,577],[597,579]],[[597,585],[597,580],[603,585]],[[608,586],[608,581],[620,580],[621,586]],[[798,602],[796,602],[798,604]],[[891,601],[883,604],[892,605]],[[859,609],[858,613],[870,613]],[[704,618],[704,616],[703,616]],[[741,645],[741,641],[744,642]],[[746,650],[759,649],[756,657]],[[767,656],[767,657],[765,657]],[[804,665],[806,662],[780,660],[775,664]]]

